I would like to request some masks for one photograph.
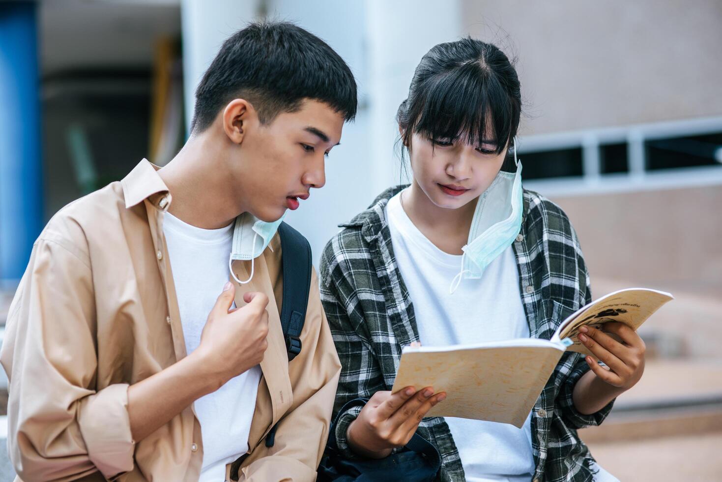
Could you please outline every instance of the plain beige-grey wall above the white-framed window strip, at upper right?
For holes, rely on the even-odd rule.
[[[721,115],[721,25],[719,0],[464,0],[462,15],[518,54],[521,134]]]

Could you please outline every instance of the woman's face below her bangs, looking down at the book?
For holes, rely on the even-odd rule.
[[[463,139],[428,139],[414,133],[409,146],[414,181],[438,207],[457,209],[477,199],[492,184],[508,146],[497,154],[496,140],[471,145]]]

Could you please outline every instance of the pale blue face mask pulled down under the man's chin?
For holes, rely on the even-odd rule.
[[[246,283],[251,283],[253,279],[254,260],[263,254],[266,246],[268,246],[271,239],[273,239],[276,231],[278,231],[279,225],[285,217],[286,212],[283,213],[279,220],[273,223],[266,223],[251,215],[250,212],[244,212],[238,216],[238,218],[235,218],[233,244],[230,250],[230,258],[228,259],[228,269],[230,270],[230,275],[238,284],[245,285]],[[253,233],[253,235],[251,235],[251,233]],[[236,259],[251,261],[251,277],[248,277],[248,280],[239,280],[235,272],[233,272],[233,261]]]

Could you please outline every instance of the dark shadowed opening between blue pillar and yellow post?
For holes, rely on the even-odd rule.
[[[152,85],[147,72],[71,72],[44,87],[49,218],[73,199],[122,179],[149,156]]]

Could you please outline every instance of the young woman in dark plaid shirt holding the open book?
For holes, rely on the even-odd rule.
[[[389,391],[404,345],[549,339],[591,301],[567,216],[521,188],[520,111],[516,71],[493,45],[443,43],[417,67],[397,114],[412,184],[384,191],[342,225],[321,259],[343,366],[335,453],[381,459],[419,434],[438,450],[444,481],[616,480],[577,429],[601,423],[642,374],[644,344],[622,324],[605,327],[625,343],[593,329],[582,337],[609,370],[566,353],[521,429],[424,418],[444,393]],[[357,398],[370,400],[341,410]]]

